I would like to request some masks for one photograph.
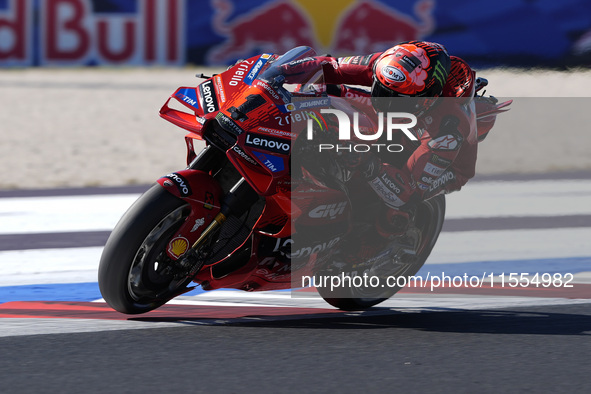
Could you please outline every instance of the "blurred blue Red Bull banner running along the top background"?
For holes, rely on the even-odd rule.
[[[0,67],[222,65],[424,39],[471,64],[591,64],[588,0],[0,0]]]

